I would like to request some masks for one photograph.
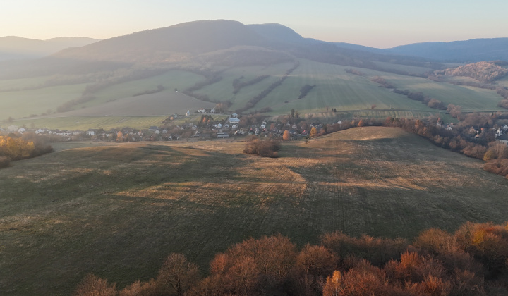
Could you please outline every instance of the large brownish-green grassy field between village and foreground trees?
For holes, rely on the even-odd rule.
[[[88,272],[123,287],[171,252],[206,272],[251,236],[302,246],[334,230],[413,238],[507,220],[507,180],[397,128],[289,142],[279,159],[243,142],[68,145],[0,170],[1,295],[69,295]]]

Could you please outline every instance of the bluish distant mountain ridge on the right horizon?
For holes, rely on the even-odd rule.
[[[471,39],[454,42],[423,42],[386,49],[386,53],[419,56],[459,63],[508,61],[508,38]]]

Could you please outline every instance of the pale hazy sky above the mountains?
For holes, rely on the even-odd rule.
[[[193,20],[280,23],[303,37],[394,47],[508,37],[507,0],[1,0],[0,37],[107,39]]]

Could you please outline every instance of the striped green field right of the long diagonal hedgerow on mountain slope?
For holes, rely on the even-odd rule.
[[[365,76],[346,73],[351,67],[337,66],[302,60],[300,66],[282,85],[262,99],[254,109],[271,107],[272,113],[287,113],[295,109],[304,113],[322,112],[326,106],[337,111],[370,109],[375,104],[378,109],[412,109],[433,111],[418,101],[395,94],[370,81],[375,75],[383,73],[356,68]],[[298,99],[304,85],[316,85],[303,99]],[[288,101],[288,103],[284,103]]]

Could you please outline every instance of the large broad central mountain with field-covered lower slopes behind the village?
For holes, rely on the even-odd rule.
[[[428,79],[436,70],[460,65],[395,51],[303,38],[279,24],[243,25],[232,20],[182,23],[64,49],[32,61],[0,63],[0,100],[9,106],[0,110],[0,120],[37,118],[42,113],[65,116],[62,112],[111,115],[114,112],[104,110],[116,105],[117,110],[124,110],[116,115],[154,115],[135,108],[138,104],[150,105],[148,109],[155,111],[181,112],[187,103],[175,103],[171,108],[171,100],[133,97],[159,85],[200,99],[203,106],[229,101],[231,111],[246,113],[260,109],[267,115],[291,109],[320,113],[334,107],[354,117],[356,113],[365,116],[373,105],[378,108],[375,117],[393,116],[392,110],[416,111],[416,117],[437,112],[380,87],[373,82],[376,77],[389,79],[400,90],[423,92],[445,106],[460,102],[464,110],[502,110],[497,106],[502,97],[494,90]],[[349,69],[353,73],[346,72]],[[235,81],[243,85],[238,90]],[[306,98],[298,99],[306,85],[316,87]],[[58,92],[59,87],[68,91]],[[36,104],[21,107],[18,101]]]

